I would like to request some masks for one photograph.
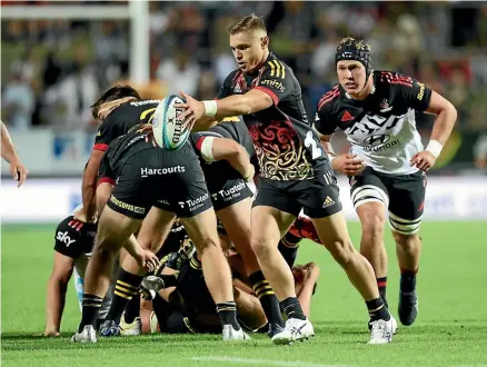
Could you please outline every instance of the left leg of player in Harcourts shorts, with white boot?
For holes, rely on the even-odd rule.
[[[92,257],[86,270],[81,323],[72,341],[97,341],[95,326],[110,285],[117,254],[139,225],[140,220],[127,217],[110,207],[103,209]]]

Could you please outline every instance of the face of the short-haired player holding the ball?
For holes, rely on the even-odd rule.
[[[269,38],[261,32],[230,34],[230,48],[240,70],[249,72],[262,61]]]

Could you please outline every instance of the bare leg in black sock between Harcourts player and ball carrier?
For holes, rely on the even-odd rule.
[[[264,277],[256,254],[251,247],[250,197],[251,191],[248,190],[248,197],[246,199],[230,202],[229,206],[217,210],[217,216],[244,260],[245,275],[248,277],[257,298],[262,305],[267,319],[269,320],[269,330],[272,334],[272,330],[277,331],[279,328],[282,328],[285,323],[279,308],[279,300]]]

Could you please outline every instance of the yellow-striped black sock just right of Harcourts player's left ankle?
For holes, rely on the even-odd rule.
[[[113,300],[107,315],[107,320],[113,320],[120,324],[120,317],[126,310],[127,304],[133,296],[139,295],[139,286],[143,277],[130,274],[122,268],[118,274],[117,284],[115,285]]]

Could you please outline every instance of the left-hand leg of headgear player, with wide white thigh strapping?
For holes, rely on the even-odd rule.
[[[380,178],[368,168],[351,178],[351,201],[361,224],[360,254],[371,264],[377,287],[386,307],[387,252],[384,245],[384,227],[389,197]]]

